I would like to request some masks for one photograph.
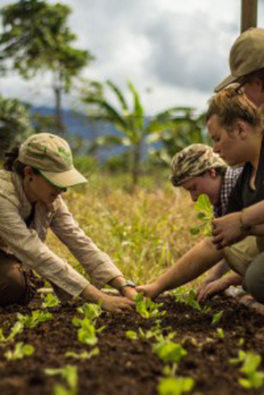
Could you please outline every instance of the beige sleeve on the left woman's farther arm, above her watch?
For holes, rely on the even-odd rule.
[[[93,240],[80,229],[68,207],[60,197],[51,229],[62,240],[84,267],[98,288],[123,274],[111,261],[110,256],[101,251]]]

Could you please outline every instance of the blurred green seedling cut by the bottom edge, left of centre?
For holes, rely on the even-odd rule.
[[[61,384],[55,384],[54,395],[78,395],[78,371],[76,366],[67,365],[58,369],[45,369],[45,374],[61,374],[68,384],[68,389]]]

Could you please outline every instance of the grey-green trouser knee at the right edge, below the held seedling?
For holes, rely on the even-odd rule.
[[[244,278],[243,289],[264,304],[264,252],[255,256]]]

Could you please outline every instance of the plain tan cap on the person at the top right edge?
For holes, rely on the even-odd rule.
[[[229,54],[229,67],[231,74],[219,83],[215,92],[264,67],[264,29],[248,29],[236,38]]]

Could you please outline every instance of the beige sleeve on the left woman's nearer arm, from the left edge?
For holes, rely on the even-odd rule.
[[[36,270],[72,297],[78,296],[89,284],[39,239],[37,231],[27,228],[18,207],[3,196],[0,196],[0,239],[23,265]]]

